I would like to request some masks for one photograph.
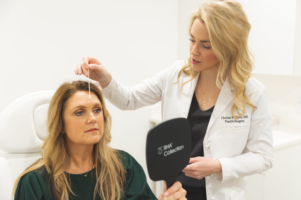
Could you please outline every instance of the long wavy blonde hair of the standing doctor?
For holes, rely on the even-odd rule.
[[[195,19],[205,23],[211,47],[219,60],[219,69],[216,79],[217,86],[222,89],[226,78],[234,89],[234,105],[231,114],[236,118],[246,113],[246,104],[253,110],[255,106],[246,95],[246,81],[253,69],[253,56],[248,48],[248,35],[251,25],[240,3],[232,0],[212,0],[203,3],[190,17],[189,32]],[[178,74],[179,82],[181,73],[190,76],[191,81],[197,72],[191,68],[191,57],[183,65]],[[237,113],[237,114],[235,114]]]

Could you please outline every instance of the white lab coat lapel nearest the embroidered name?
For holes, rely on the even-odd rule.
[[[209,137],[207,133],[209,132],[213,123],[216,121],[217,117],[219,117],[219,115],[225,110],[225,108],[229,105],[233,98],[234,95],[231,92],[231,87],[229,85],[228,79],[226,79],[224,85],[222,86],[221,92],[219,93],[219,96],[216,100],[204,140]]]

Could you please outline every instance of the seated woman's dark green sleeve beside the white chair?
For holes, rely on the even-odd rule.
[[[41,200],[42,196],[42,187],[34,171],[20,178],[14,200]]]

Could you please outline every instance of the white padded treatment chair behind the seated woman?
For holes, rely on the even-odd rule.
[[[0,199],[11,199],[17,177],[41,157],[47,112],[54,91],[17,98],[0,114]]]

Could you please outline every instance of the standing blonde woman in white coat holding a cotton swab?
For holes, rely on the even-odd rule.
[[[122,110],[162,101],[162,120],[188,118],[190,164],[178,179],[186,198],[243,200],[244,176],[272,167],[272,120],[265,86],[251,77],[250,23],[241,5],[214,0],[191,14],[190,57],[126,87],[97,59],[84,57],[75,73],[98,81]]]

